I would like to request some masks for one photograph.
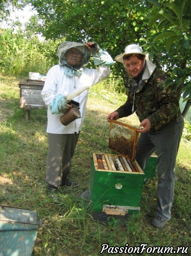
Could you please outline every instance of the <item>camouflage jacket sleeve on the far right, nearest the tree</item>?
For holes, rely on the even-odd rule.
[[[153,81],[155,98],[159,107],[147,118],[151,123],[151,128],[155,130],[168,124],[180,112],[176,92],[172,86],[166,87],[165,81],[166,79],[160,76]]]

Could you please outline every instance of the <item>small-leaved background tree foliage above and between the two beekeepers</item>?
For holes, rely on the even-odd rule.
[[[130,43],[138,43],[148,29],[148,1],[140,0],[32,0],[42,20],[41,32],[48,39],[96,41],[115,58]],[[119,63],[112,74],[124,78]],[[123,81],[123,80],[122,80]],[[116,85],[116,89],[123,89]]]

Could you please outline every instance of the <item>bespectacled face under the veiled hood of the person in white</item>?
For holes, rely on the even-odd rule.
[[[76,48],[70,48],[65,54],[66,62],[72,67],[78,67],[82,61],[82,52]]]

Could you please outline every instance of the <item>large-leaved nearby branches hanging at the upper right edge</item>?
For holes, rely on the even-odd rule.
[[[162,50],[159,62],[171,74],[168,85],[173,84],[180,98],[183,92],[187,109],[191,102],[191,12],[188,0],[149,1],[151,8],[149,34],[145,43]]]

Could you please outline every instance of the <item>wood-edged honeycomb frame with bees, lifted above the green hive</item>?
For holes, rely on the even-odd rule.
[[[131,161],[135,158],[138,137],[136,127],[115,120],[110,121],[109,148]]]

